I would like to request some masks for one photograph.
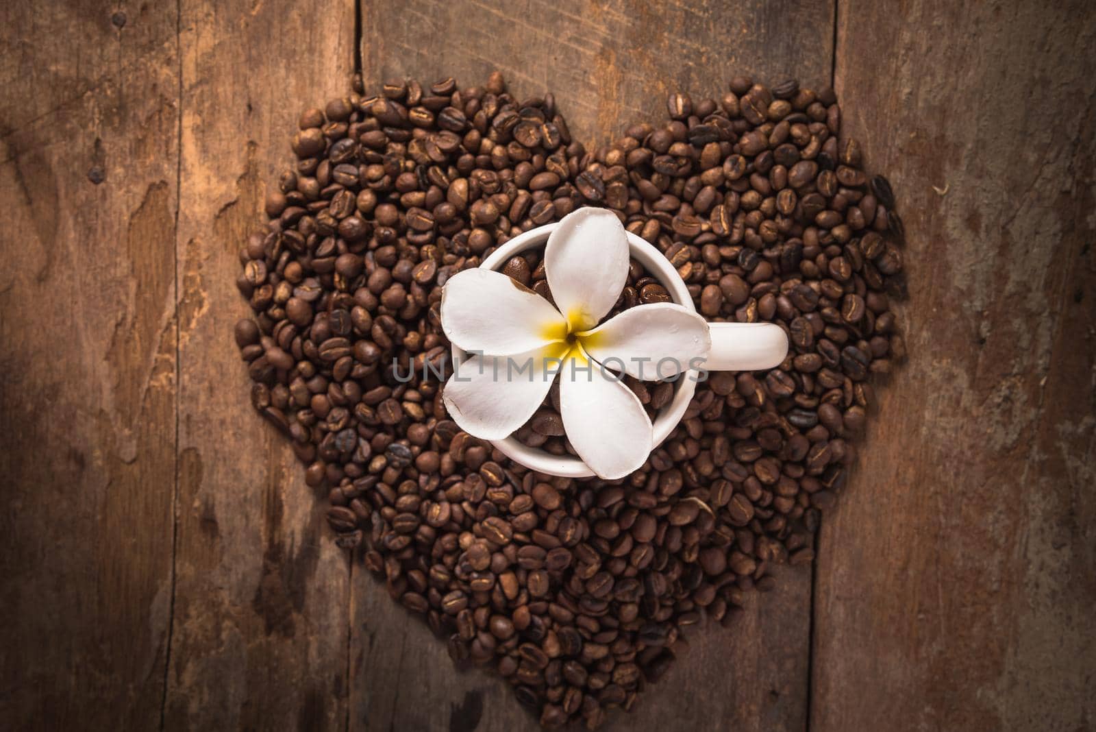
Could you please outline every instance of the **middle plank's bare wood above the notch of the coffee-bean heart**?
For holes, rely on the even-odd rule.
[[[552,92],[575,139],[604,142],[665,119],[670,92],[716,94],[735,73],[829,84],[833,15],[832,0],[363,2],[362,67],[463,85],[499,69],[520,98]]]

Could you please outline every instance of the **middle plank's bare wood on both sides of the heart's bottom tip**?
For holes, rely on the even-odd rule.
[[[775,568],[775,591],[747,595],[729,628],[686,631],[688,650],[632,713],[604,732],[802,730],[807,724],[810,570]],[[493,671],[458,672],[445,643],[354,568],[352,730],[541,729]]]

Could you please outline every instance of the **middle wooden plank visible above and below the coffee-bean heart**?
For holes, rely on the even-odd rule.
[[[370,2],[362,57],[373,89],[408,76],[471,85],[499,68],[518,98],[555,93],[576,138],[607,140],[665,119],[670,91],[715,95],[734,72],[829,83],[832,19],[830,2]],[[810,585],[809,569],[786,568],[729,631],[697,631],[639,711],[610,716],[607,729],[803,729]],[[352,729],[538,729],[496,676],[458,674],[444,643],[359,564],[353,586]]]

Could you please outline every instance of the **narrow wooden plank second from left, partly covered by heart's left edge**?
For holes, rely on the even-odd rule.
[[[180,467],[169,729],[345,721],[346,558],[255,415],[238,251],[309,104],[343,94],[353,1],[181,5]]]

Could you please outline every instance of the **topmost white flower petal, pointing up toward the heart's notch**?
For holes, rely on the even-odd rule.
[[[604,208],[564,216],[548,237],[545,274],[571,330],[596,325],[628,282],[628,235],[620,219]]]

